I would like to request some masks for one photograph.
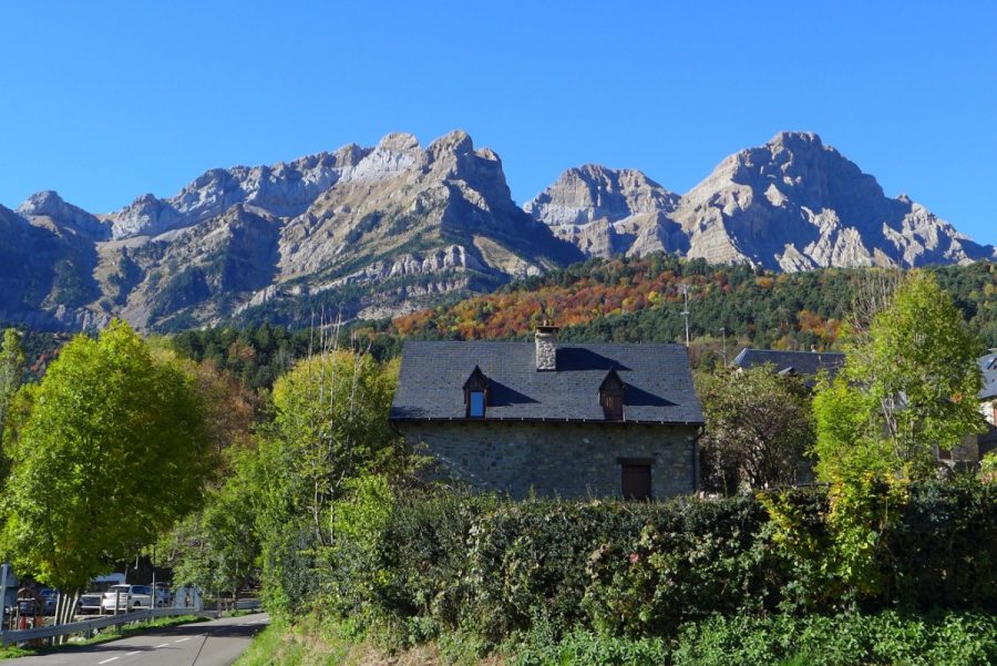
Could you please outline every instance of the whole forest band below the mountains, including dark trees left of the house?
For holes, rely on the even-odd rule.
[[[997,265],[931,268],[964,318],[988,347],[997,347]],[[525,339],[542,319],[573,341],[680,341],[682,285],[689,286],[690,332],[700,365],[741,346],[825,350],[835,347],[842,318],[868,270],[826,268],[775,274],[743,266],[710,266],[655,254],[592,259],[528,278],[495,294],[394,320],[343,327],[340,342],[384,360],[404,338]],[[251,388],[269,386],[307,355],[311,332],[264,324],[177,335],[174,345],[197,360],[213,359]]]

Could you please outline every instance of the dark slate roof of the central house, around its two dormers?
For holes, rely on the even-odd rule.
[[[465,419],[462,387],[475,366],[489,380],[487,421],[600,421],[599,385],[615,369],[627,388],[624,421],[703,423],[680,345],[557,345],[557,370],[537,371],[533,342],[409,341],[392,421]]]

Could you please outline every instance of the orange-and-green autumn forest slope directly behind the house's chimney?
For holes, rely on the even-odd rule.
[[[997,346],[997,266],[929,268],[965,319]],[[841,320],[868,269],[796,274],[710,266],[655,254],[594,259],[504,287],[495,294],[400,317],[403,337],[491,339],[525,336],[539,319],[565,327],[564,339],[677,341],[685,337],[682,285],[689,287],[693,338],[783,349],[834,347]]]

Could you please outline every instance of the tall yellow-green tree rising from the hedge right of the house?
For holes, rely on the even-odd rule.
[[[792,501],[763,498],[775,543],[813,574],[808,595],[844,604],[883,592],[883,535],[900,520],[909,482],[934,473],[937,449],[983,427],[983,346],[952,298],[928,273],[898,284],[892,274],[873,278],[855,303],[845,366],[813,400],[818,474],[830,484],[824,547],[810,547],[812,527]]]

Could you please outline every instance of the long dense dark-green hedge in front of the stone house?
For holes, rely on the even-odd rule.
[[[782,505],[792,510],[792,524],[780,527],[792,547],[774,541],[775,523],[751,495],[512,502],[370,486],[339,513],[340,537],[323,560],[322,605],[373,621],[392,645],[462,635],[491,646],[537,631],[556,641],[579,627],[668,639],[717,615],[741,618],[747,635],[752,618],[777,612],[789,618],[842,607],[997,608],[997,504],[984,484],[913,486],[900,518],[878,536],[875,586],[833,571],[829,584],[826,557],[804,556],[832,539],[825,491],[791,491]],[[794,625],[801,645],[806,632],[824,635],[813,622]],[[715,638],[734,641],[739,633]],[[758,639],[738,649],[775,649]]]

